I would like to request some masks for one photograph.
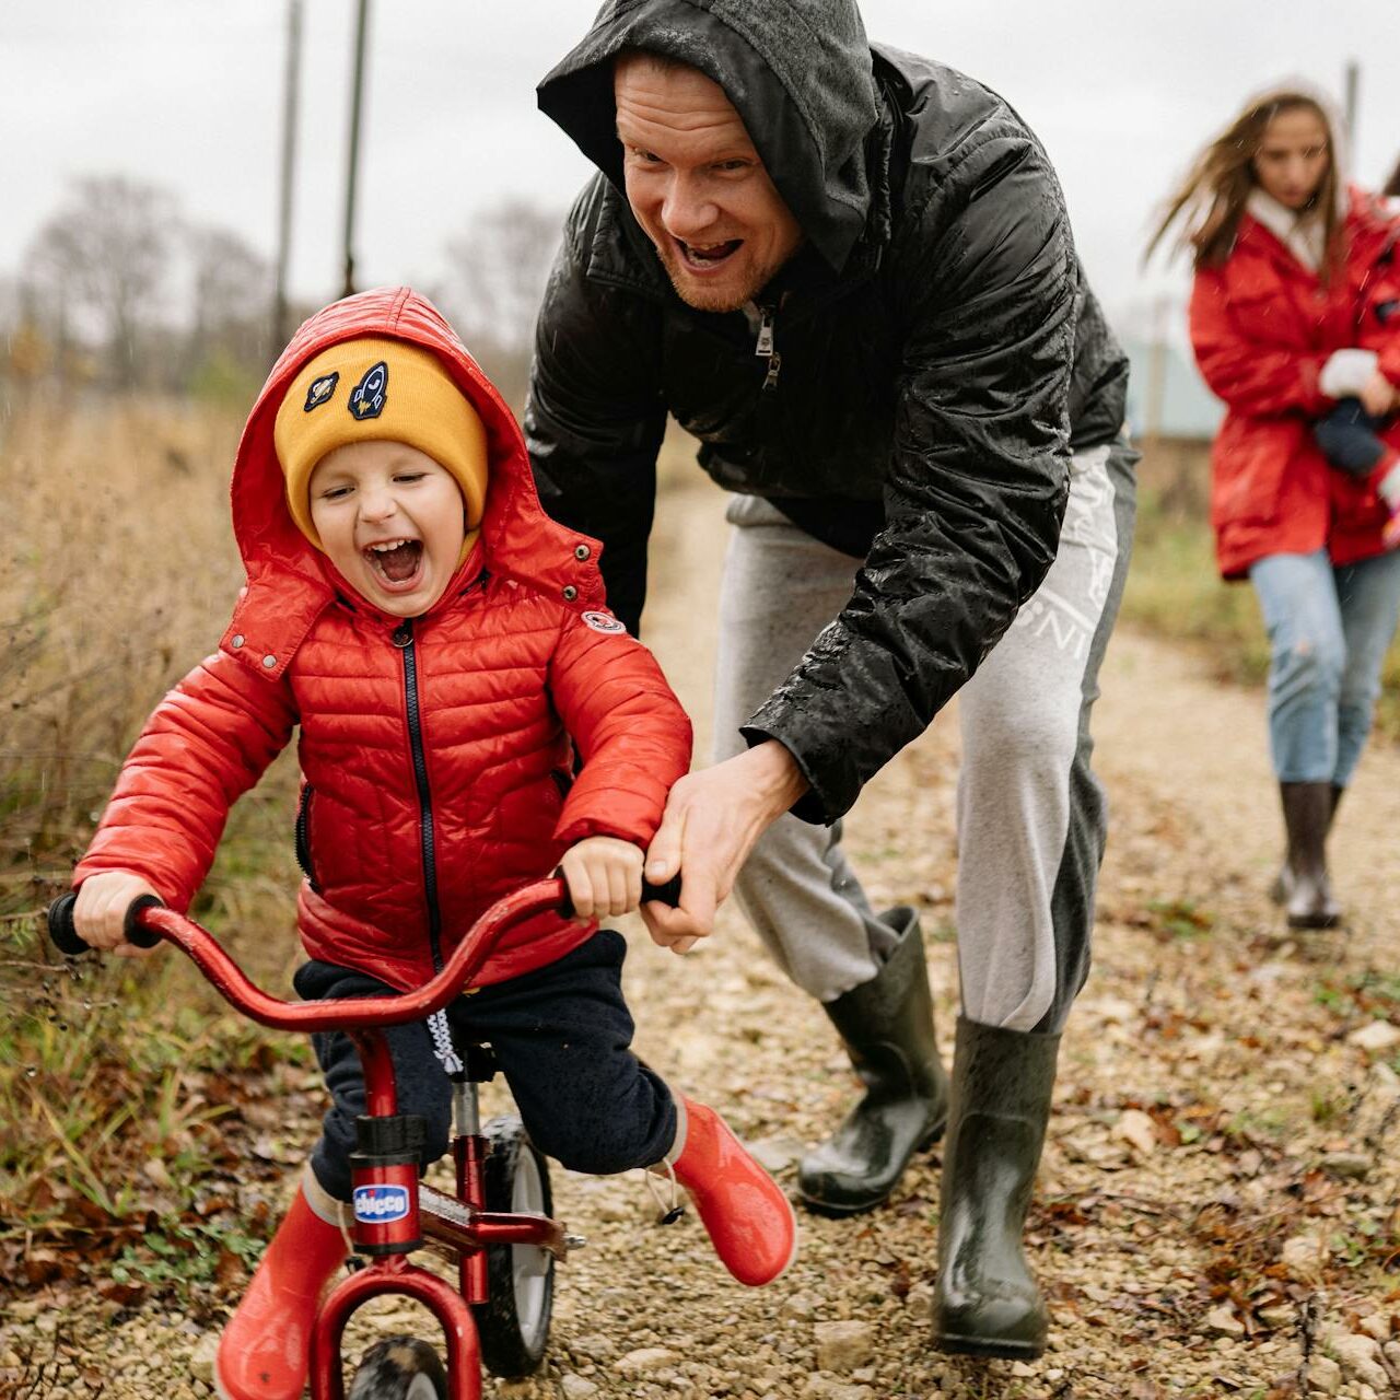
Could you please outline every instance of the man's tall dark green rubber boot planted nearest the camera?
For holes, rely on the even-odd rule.
[[[1060,1037],[958,1019],[938,1211],[934,1345],[1039,1357],[1046,1308],[1021,1238],[1050,1119]]]

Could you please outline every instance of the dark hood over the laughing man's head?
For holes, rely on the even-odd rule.
[[[645,49],[724,88],[809,242],[834,270],[865,228],[865,139],[878,118],[854,0],[606,0],[540,83],[540,111],[623,188],[613,59]]]

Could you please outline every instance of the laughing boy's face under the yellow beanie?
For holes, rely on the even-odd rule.
[[[349,442],[311,473],[311,522],[367,602],[417,617],[456,573],[466,539],[456,479],[406,442]]]

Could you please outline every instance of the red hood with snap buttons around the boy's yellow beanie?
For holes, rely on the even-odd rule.
[[[462,573],[484,566],[577,609],[605,606],[598,573],[601,546],[545,514],[535,493],[525,440],[494,385],[426,297],[409,287],[379,287],[336,301],[305,321],[273,365],[248,417],[231,487],[234,536],[248,571],[248,587],[224,645],[246,655],[266,673],[280,675],[336,592],[353,592],[287,510],[273,423],[301,367],[329,346],[360,336],[386,336],[431,350],[486,426],[490,462],[486,512],[480,546],[463,561]],[[444,598],[456,591],[458,584],[449,584]]]

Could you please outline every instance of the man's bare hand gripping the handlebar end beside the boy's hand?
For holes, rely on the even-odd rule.
[[[806,790],[792,755],[767,739],[713,769],[683,777],[666,799],[666,815],[647,850],[647,879],[662,885],[680,872],[680,907],[643,904],[654,942],[689,952],[714,928],[714,911],[753,843]]]

